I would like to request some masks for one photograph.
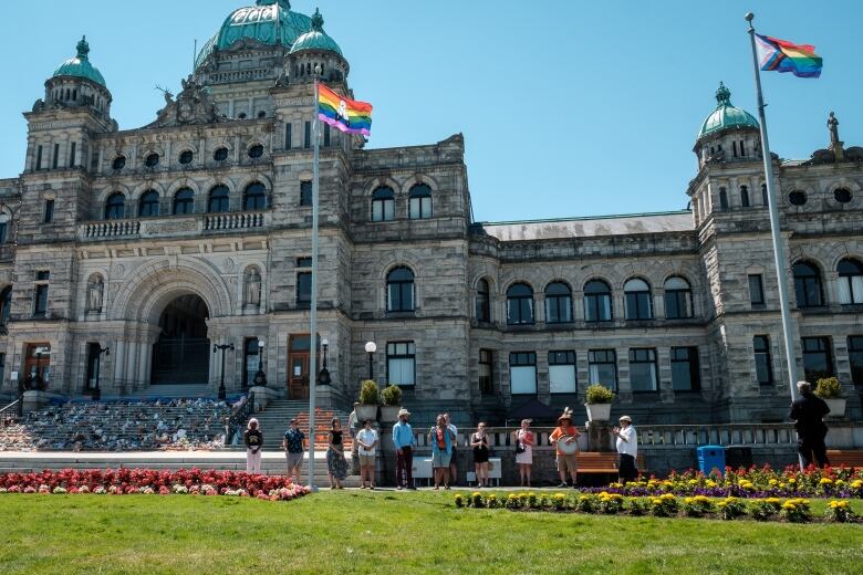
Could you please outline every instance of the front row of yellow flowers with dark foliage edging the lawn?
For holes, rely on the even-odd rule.
[[[752,499],[735,496],[713,499],[706,495],[678,498],[672,493],[655,496],[624,496],[620,493],[480,493],[455,496],[457,508],[509,509],[513,511],[576,512],[604,515],[653,515],[657,518],[707,518],[735,520],[749,518],[756,521],[786,521],[808,523],[813,521],[809,500]],[[861,518],[849,501],[832,500],[824,512],[824,521],[860,523]]]

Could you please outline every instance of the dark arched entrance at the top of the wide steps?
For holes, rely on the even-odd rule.
[[[162,333],[153,344],[153,385],[208,381],[209,316],[207,304],[195,294],[180,295],[165,307],[159,317]]]

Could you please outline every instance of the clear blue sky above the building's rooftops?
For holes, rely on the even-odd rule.
[[[252,0],[248,0],[251,3]],[[13,90],[0,91],[0,177],[23,166],[21,112],[74,55],[82,33],[114,95],[122,129],[155,118],[156,84],[179,87],[202,44],[242,0],[8,2],[0,40]],[[796,0],[293,0],[320,6],[375,106],[371,147],[464,133],[477,220],[676,210],[695,176],[695,135],[719,81],[755,109],[744,14],[761,33],[812,43],[820,80],[763,75],[772,151],[808,158],[840,135],[863,145],[863,2]],[[357,9],[362,6],[362,9]],[[9,82],[4,82],[9,86]],[[550,97],[553,94],[554,97]]]

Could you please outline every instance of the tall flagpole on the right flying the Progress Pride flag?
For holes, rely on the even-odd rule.
[[[794,336],[791,325],[791,312],[788,307],[788,272],[786,271],[786,250],[779,227],[779,209],[773,190],[773,158],[770,156],[770,143],[767,139],[767,117],[765,116],[765,96],[761,92],[761,71],[758,65],[758,50],[756,49],[755,28],[752,20],[755,14],[748,12],[746,21],[749,22],[749,40],[752,44],[752,66],[755,69],[756,91],[758,93],[758,121],[761,124],[761,150],[765,158],[765,177],[767,178],[767,198],[770,208],[770,233],[773,238],[773,260],[776,263],[777,283],[779,284],[779,309],[782,312],[782,338],[786,343],[786,360],[788,362],[788,388],[791,400],[797,399],[797,356],[794,354]],[[802,459],[801,467],[802,467]]]

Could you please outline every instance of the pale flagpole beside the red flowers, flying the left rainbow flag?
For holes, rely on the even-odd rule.
[[[319,160],[320,160],[320,121],[318,119],[318,74],[320,67],[314,66],[314,112],[312,116],[312,138],[314,139],[314,161],[312,167],[312,302],[309,311],[309,485],[316,490],[314,484],[314,409],[315,391],[318,384],[318,198],[319,198]]]

